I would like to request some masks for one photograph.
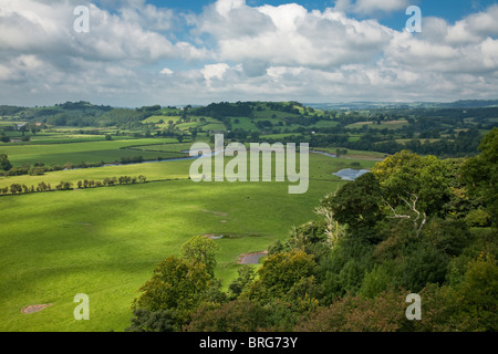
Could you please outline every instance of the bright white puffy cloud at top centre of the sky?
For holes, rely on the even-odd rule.
[[[219,11],[218,3],[227,1],[203,14],[199,30],[215,38],[218,60],[241,62],[252,73],[262,74],[262,65],[332,67],[369,61],[390,42],[390,29],[332,9],[309,12],[295,3],[250,8],[230,2]]]

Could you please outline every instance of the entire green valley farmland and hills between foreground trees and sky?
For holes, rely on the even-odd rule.
[[[295,102],[0,108],[2,331],[124,331],[154,267],[195,236],[214,238],[215,274],[228,291],[242,254],[323,221],[321,200],[346,184],[334,173],[371,169],[404,148],[474,156],[495,124],[494,111],[465,118],[442,111],[436,119],[433,111],[324,111]],[[445,123],[449,114],[454,128]],[[212,147],[215,133],[246,146],[309,143],[338,157],[310,154],[302,195],[289,194],[290,183],[194,183],[193,160],[183,157],[195,142]],[[55,187],[62,181],[68,188]],[[42,184],[52,187],[39,190]],[[73,316],[79,293],[91,299],[91,321]],[[48,306],[22,312],[33,305]]]

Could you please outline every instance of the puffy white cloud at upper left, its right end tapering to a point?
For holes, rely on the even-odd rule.
[[[112,14],[90,6],[90,32],[75,33],[74,3],[56,6],[33,0],[2,0],[0,48],[2,51],[82,56],[89,60],[153,62],[160,59],[189,59],[198,50],[187,43],[173,44],[155,30],[167,29],[173,17],[137,1]]]

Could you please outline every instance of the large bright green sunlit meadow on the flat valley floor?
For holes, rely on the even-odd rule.
[[[87,156],[90,149],[98,156],[107,150],[104,147],[120,150],[131,143],[87,143],[86,149],[81,145],[68,145],[68,155],[54,145],[38,150],[15,146],[9,158],[15,164],[60,163],[79,154]],[[374,164],[360,163],[362,167]],[[240,254],[266,250],[293,225],[318,217],[313,210],[319,200],[342,184],[332,173],[350,167],[351,160],[311,154],[310,187],[304,195],[289,195],[288,183],[195,184],[186,179],[190,164],[147,163],[0,179],[7,186],[145,175],[148,181],[0,197],[0,331],[124,331],[132,301],[155,264],[178,253],[196,235],[230,236],[216,241],[216,273],[227,287]],[[90,321],[74,320],[77,293],[90,296]],[[51,306],[21,313],[33,304]]]

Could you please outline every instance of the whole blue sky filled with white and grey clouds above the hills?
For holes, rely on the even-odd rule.
[[[0,0],[0,105],[490,100],[497,38],[485,0]]]

